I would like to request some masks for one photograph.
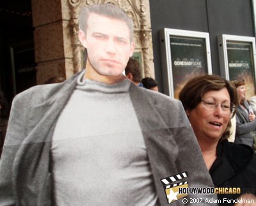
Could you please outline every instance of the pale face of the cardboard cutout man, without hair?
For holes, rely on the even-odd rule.
[[[93,68],[101,75],[117,76],[133,54],[129,27],[117,18],[90,13],[84,47]]]

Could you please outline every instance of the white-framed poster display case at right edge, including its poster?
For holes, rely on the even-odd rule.
[[[255,38],[221,34],[218,36],[221,77],[227,80],[243,80],[246,98],[255,92]]]

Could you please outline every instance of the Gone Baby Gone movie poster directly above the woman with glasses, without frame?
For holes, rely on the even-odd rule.
[[[174,98],[193,77],[208,73],[204,38],[170,36]]]

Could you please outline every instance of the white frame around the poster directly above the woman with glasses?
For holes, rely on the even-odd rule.
[[[207,72],[209,75],[212,74],[211,48],[209,33],[169,28],[159,30],[164,94],[174,98],[170,36],[204,39],[206,48],[205,62],[207,62]]]

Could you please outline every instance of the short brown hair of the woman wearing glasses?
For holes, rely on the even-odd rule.
[[[179,99],[185,110],[193,110],[201,101],[204,94],[208,91],[220,91],[223,88],[227,88],[230,96],[230,102],[236,105],[238,103],[237,91],[234,85],[225,78],[217,75],[202,75],[195,77],[183,87],[179,93]],[[232,117],[236,114],[236,110],[233,112]],[[227,129],[221,136],[221,141],[227,139],[230,136],[231,122],[228,122]]]

